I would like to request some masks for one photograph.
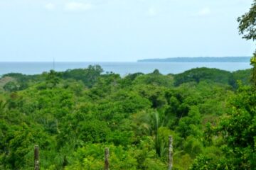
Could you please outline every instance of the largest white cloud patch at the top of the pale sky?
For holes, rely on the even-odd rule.
[[[92,4],[80,3],[80,2],[69,2],[65,4],[65,11],[87,11],[92,8]]]

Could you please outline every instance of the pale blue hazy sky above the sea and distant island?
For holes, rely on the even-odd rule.
[[[250,56],[252,0],[0,0],[1,62]]]

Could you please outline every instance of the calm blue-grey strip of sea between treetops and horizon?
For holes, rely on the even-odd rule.
[[[55,62],[55,71],[86,68],[99,64],[105,72],[122,76],[135,73],[150,73],[159,69],[162,74],[177,74],[196,67],[224,69],[230,72],[251,68],[249,62]],[[0,62],[0,75],[16,72],[22,74],[41,74],[53,69],[53,62]]]

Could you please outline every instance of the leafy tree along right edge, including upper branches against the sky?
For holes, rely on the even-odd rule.
[[[250,11],[238,18],[239,32],[246,40],[256,40],[256,0]],[[256,53],[251,58],[254,87],[240,86],[230,100],[230,111],[208,133],[221,140],[223,156],[218,160],[201,155],[191,169],[256,169]]]

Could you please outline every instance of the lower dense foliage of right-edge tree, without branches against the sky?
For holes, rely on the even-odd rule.
[[[238,94],[230,99],[230,112],[223,115],[220,122],[208,133],[212,140],[216,135],[221,142],[216,143],[223,150],[223,158],[212,161],[211,157],[198,157],[192,167],[208,169],[255,169],[255,128],[256,114],[255,88],[240,87]]]

